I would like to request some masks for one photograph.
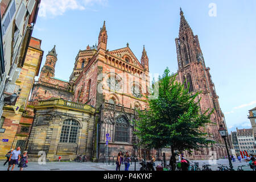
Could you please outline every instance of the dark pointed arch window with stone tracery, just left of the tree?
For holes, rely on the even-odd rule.
[[[129,121],[125,115],[115,121],[115,142],[129,142]]]

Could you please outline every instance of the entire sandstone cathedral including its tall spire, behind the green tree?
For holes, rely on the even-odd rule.
[[[199,40],[193,35],[182,11],[180,16],[179,38],[175,40],[179,64],[177,81],[186,81],[192,94],[202,91],[199,97],[203,111],[214,108],[211,118],[214,124],[205,126],[204,130],[216,141],[208,148],[194,151],[193,155],[187,152],[185,155],[189,159],[209,159],[212,155],[222,158],[226,149],[218,126],[226,127],[225,118],[209,68],[205,67]],[[129,151],[139,158],[144,152],[159,157],[169,151],[144,150],[135,145],[137,137],[133,134],[132,121],[137,118],[136,110],[146,109],[150,86],[146,49],[143,47],[139,61],[128,43],[113,51],[109,51],[107,45],[108,32],[104,22],[98,44],[87,46],[77,54],[69,81],[55,77],[56,47],[48,52],[29,102],[34,108],[34,123],[27,145],[29,155],[36,158],[43,151],[48,160],[57,160],[60,155],[72,160],[76,155],[85,154],[93,161],[102,161],[108,157],[107,139],[110,156],[115,156],[118,151]]]

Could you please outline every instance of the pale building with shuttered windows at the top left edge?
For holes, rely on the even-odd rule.
[[[38,15],[40,0],[2,0],[1,32],[4,67],[0,84],[0,117],[3,105],[15,105],[16,76],[20,74]]]

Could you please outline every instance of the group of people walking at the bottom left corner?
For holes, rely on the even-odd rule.
[[[11,168],[11,171],[13,171],[15,165],[18,165],[20,171],[23,171],[23,168],[27,167],[27,163],[28,163],[27,151],[24,151],[23,154],[20,155],[20,147],[17,147],[16,150],[11,148],[11,150],[9,152],[7,152],[7,154],[5,156],[6,156],[7,160],[3,164],[3,166],[5,166],[6,163],[8,163],[7,171],[10,171],[11,166],[13,166]]]

